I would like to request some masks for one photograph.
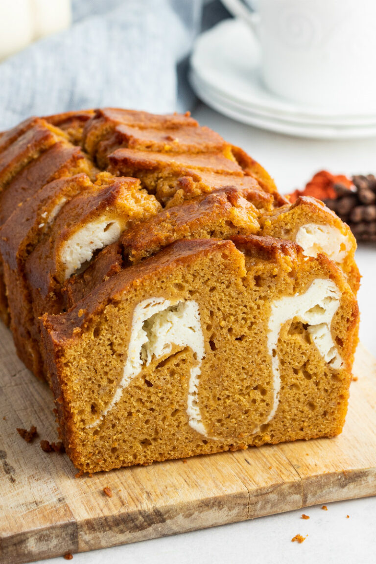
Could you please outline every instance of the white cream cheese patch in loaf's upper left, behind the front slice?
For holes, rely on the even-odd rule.
[[[114,243],[120,234],[120,223],[108,219],[88,223],[73,233],[60,250],[60,260],[65,267],[64,280],[72,276],[83,263],[90,261],[95,250]]]

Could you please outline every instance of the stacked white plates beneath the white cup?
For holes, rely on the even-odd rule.
[[[190,81],[206,104],[245,124],[319,139],[376,136],[376,113],[365,114],[361,108],[346,115],[325,112],[285,101],[266,90],[260,77],[258,43],[241,20],[225,20],[197,39]]]

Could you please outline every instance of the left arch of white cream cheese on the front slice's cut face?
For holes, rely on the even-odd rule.
[[[169,355],[172,345],[182,349],[185,347],[192,349],[194,364],[188,384],[187,415],[192,429],[206,437],[206,429],[198,405],[198,383],[202,359],[205,356],[204,334],[201,329],[198,303],[194,300],[171,301],[165,298],[148,298],[135,307],[122,380],[99,419],[89,427],[98,425],[115,406],[121,398],[123,389],[138,376],[144,365],[148,366],[153,358]]]

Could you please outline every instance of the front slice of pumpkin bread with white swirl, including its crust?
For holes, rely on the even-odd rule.
[[[356,324],[324,255],[257,236],[176,241],[43,318],[69,456],[96,472],[334,436]]]

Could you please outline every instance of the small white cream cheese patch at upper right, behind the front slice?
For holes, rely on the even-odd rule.
[[[295,243],[302,247],[307,257],[317,257],[319,253],[325,253],[338,264],[344,261],[351,249],[348,237],[337,227],[319,223],[306,223],[299,227]]]

